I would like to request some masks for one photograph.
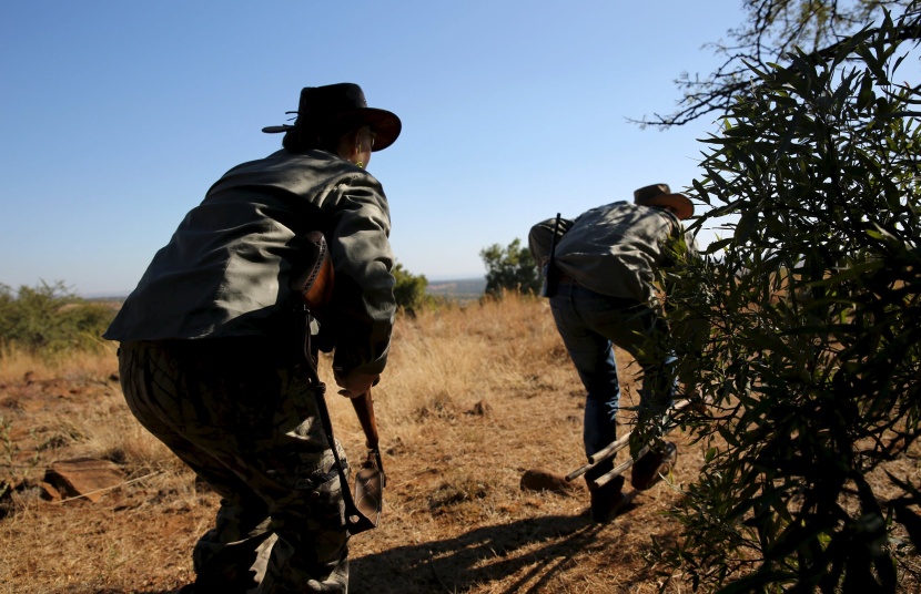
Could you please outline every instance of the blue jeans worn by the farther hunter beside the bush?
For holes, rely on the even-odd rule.
[[[615,439],[620,406],[620,382],[611,346],[634,356],[642,369],[640,421],[661,413],[675,397],[675,357],[661,345],[668,326],[651,308],[634,299],[610,297],[575,283],[560,283],[550,297],[556,327],[587,391],[583,440],[591,455]],[[588,479],[600,477],[614,461],[596,467]]]

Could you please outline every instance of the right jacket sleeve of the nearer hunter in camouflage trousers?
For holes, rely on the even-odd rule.
[[[342,373],[379,373],[387,362],[396,311],[387,199],[368,174],[342,181],[328,197],[336,275],[333,367]]]

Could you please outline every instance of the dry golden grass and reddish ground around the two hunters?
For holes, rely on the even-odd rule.
[[[0,520],[0,593],[160,593],[191,581],[191,549],[217,498],[131,417],[114,352],[53,366],[8,352],[0,363],[0,477],[19,485]],[[682,436],[675,485],[604,526],[589,522],[584,489],[519,489],[528,469],[583,463],[583,398],[545,300],[401,317],[375,391],[385,512],[352,540],[351,592],[657,592],[645,551],[676,537],[661,512],[701,463]],[[330,404],[337,437],[361,457],[351,407],[334,393]],[[81,455],[119,461],[126,484],[98,503],[42,500],[33,485],[44,469]]]

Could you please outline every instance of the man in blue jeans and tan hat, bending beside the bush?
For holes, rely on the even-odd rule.
[[[692,214],[687,196],[672,194],[667,184],[655,184],[634,192],[632,203],[615,202],[576,219],[551,218],[530,229],[535,262],[553,266],[547,272],[550,308],[587,391],[586,455],[617,439],[620,383],[613,346],[627,350],[642,369],[638,423],[660,420],[672,402],[676,359],[656,281],[664,268],[694,252],[681,226]],[[657,440],[634,464],[634,488],[651,488],[676,460],[675,444]],[[611,458],[589,470],[586,480],[613,468]],[[617,514],[625,502],[624,482],[618,477],[591,491],[594,521],[607,522]]]

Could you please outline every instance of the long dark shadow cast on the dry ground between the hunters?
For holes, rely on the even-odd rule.
[[[348,591],[464,592],[477,584],[508,580],[527,569],[502,592],[539,592],[556,573],[571,566],[574,552],[598,540],[600,529],[587,515],[554,515],[480,528],[444,541],[397,546],[350,560]],[[533,550],[518,554],[525,547]],[[537,581],[525,590],[536,576]]]

